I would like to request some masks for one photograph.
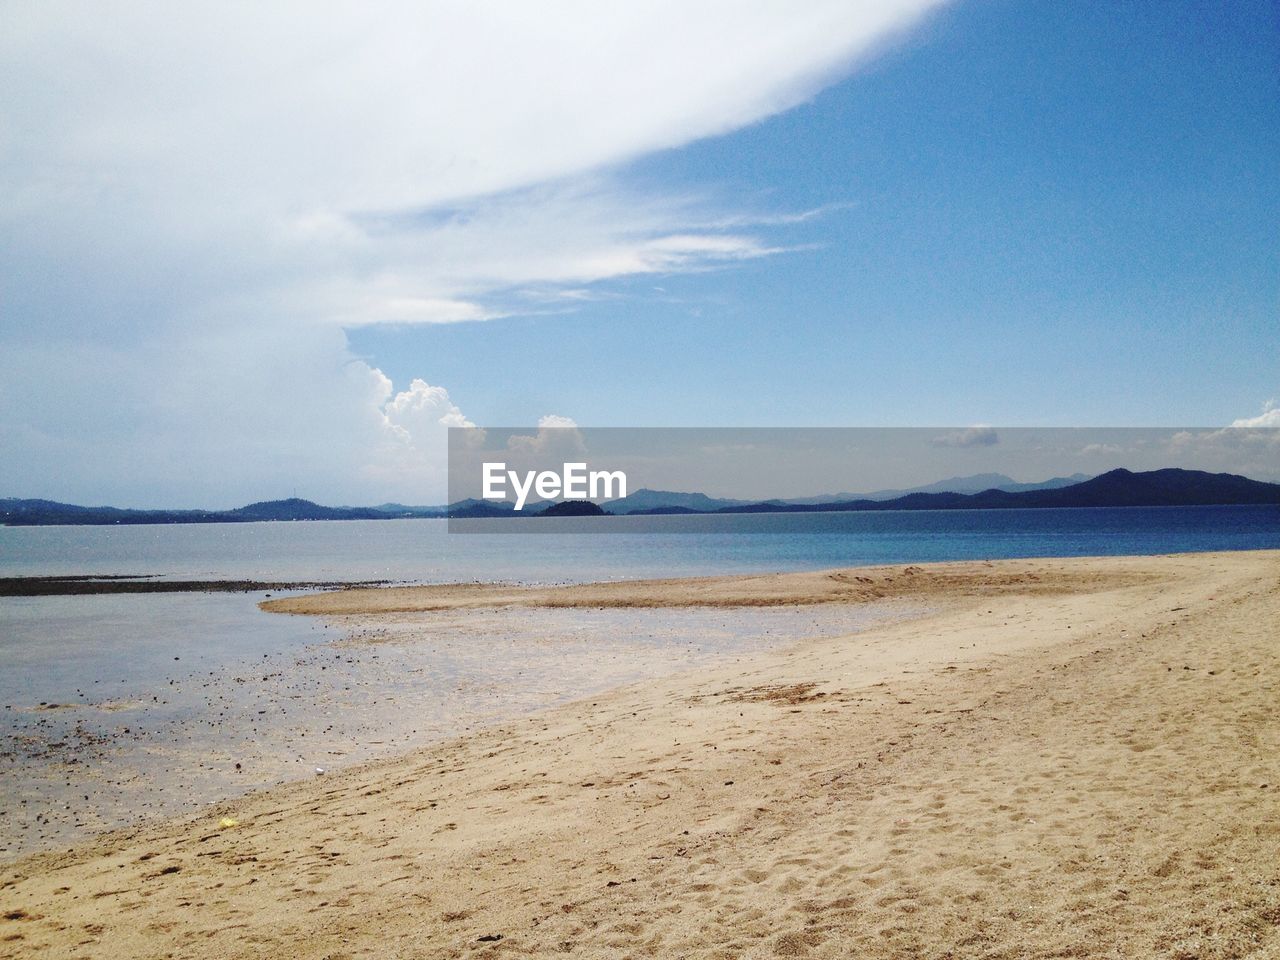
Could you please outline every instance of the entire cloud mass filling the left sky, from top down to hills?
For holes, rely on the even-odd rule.
[[[818,211],[617,165],[801,102],[937,3],[6,3],[3,492],[420,499],[461,411],[344,328],[777,255]]]

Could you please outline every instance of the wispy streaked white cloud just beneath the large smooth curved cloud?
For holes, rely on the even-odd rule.
[[[330,317],[346,326],[493,320],[530,303],[608,297],[609,280],[699,273],[796,250],[764,236],[787,216],[723,218],[707,200],[639,192],[593,174],[453,205],[444,216],[348,218],[340,230],[332,228],[335,242],[349,248],[348,262],[375,260],[379,269],[325,276],[307,294],[329,303]]]

